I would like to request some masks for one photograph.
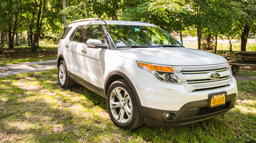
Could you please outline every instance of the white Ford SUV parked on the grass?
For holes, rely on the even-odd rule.
[[[222,56],[185,48],[154,24],[73,21],[58,44],[62,88],[75,82],[107,99],[111,120],[162,128],[223,116],[237,84]]]

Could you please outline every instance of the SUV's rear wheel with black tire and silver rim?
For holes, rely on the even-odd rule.
[[[60,87],[64,89],[75,85],[75,82],[67,74],[67,66],[64,60],[60,61],[58,66],[58,80]]]

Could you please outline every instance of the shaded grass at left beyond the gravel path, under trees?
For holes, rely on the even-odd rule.
[[[40,44],[36,52],[31,52],[31,47],[27,44],[14,46],[14,49],[8,49],[5,45],[4,54],[0,55],[0,66],[55,58],[57,58],[57,45]]]

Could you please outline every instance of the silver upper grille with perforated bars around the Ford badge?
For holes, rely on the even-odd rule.
[[[188,92],[229,86],[230,70],[227,63],[204,66],[173,66],[183,86]],[[220,74],[218,79],[211,79],[213,72]]]

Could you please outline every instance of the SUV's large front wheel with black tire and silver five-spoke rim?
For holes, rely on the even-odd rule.
[[[135,95],[124,79],[113,82],[107,92],[107,109],[113,123],[124,129],[144,124]]]

